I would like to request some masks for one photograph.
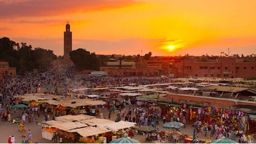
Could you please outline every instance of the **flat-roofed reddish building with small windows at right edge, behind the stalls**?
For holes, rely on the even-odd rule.
[[[171,73],[179,78],[255,78],[255,62],[243,62],[237,58],[218,57],[214,62],[177,61]]]

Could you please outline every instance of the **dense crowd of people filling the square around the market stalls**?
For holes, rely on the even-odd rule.
[[[156,78],[125,78],[125,77],[93,77],[88,75],[78,75],[73,68],[55,68],[46,73],[46,79],[40,78],[40,74],[24,74],[17,75],[16,78],[11,79],[8,76],[5,77],[0,83],[0,114],[3,122],[14,122],[11,119],[11,111],[16,112],[16,108],[11,109],[12,105],[20,104],[14,95],[33,94],[38,92],[38,88],[45,89],[47,93],[58,94],[66,96],[68,89],[63,88],[63,84],[68,83],[72,86],[80,88],[86,86],[87,88],[99,88],[104,86],[123,86],[129,84],[156,84],[156,83],[168,83],[168,79],[156,79]],[[49,88],[53,88],[49,89]],[[133,102],[135,101],[135,102]],[[134,105],[132,105],[134,104]],[[125,109],[125,105],[129,105],[129,110]],[[108,100],[104,106],[105,110],[109,111],[109,118],[111,112],[115,112],[117,115],[116,121],[124,119],[125,121],[136,122],[138,126],[152,126],[157,128],[159,121],[165,122],[179,121],[186,125],[186,115],[181,111],[179,114],[169,114],[168,111],[161,111],[150,107],[147,102],[140,100],[125,99],[121,100],[121,105],[116,105],[112,100]],[[40,106],[28,107],[22,109],[21,120],[26,122],[38,122],[40,117],[40,110],[44,110]],[[45,112],[46,113],[46,112]],[[44,119],[50,119],[48,115],[45,115]],[[13,119],[14,120],[14,119]],[[234,141],[239,138],[241,143],[253,143],[253,135],[246,135],[243,131],[234,131],[227,126],[208,124],[207,122],[196,121],[196,136],[204,136],[206,138],[222,138],[228,137]],[[26,128],[19,129],[22,132],[22,136],[26,136]],[[129,132],[129,135],[133,135],[133,131]],[[11,136],[10,136],[11,137]],[[13,136],[12,136],[13,137]],[[14,143],[14,137],[10,138],[10,142]],[[31,132],[27,135],[28,140],[24,143],[32,143]],[[12,140],[13,139],[13,140]],[[8,140],[9,142],[9,140]],[[36,141],[35,141],[36,142]]]

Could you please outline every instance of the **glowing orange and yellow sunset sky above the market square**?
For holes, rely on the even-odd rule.
[[[0,0],[0,38],[63,55],[256,54],[255,0]]]

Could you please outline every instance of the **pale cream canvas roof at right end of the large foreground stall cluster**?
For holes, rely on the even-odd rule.
[[[134,127],[135,124],[136,124],[135,122],[119,121],[119,122],[115,122],[114,124],[106,125],[105,128],[108,128],[113,131],[118,131],[124,128]]]

